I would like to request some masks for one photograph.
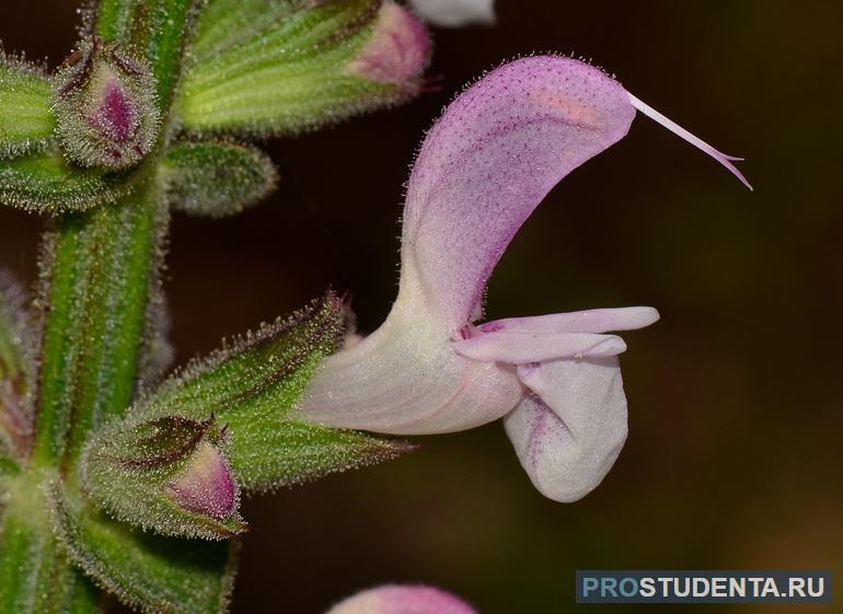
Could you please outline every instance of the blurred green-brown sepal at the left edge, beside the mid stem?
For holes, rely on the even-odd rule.
[[[0,270],[0,453],[18,459],[32,445],[36,337],[23,291]]]

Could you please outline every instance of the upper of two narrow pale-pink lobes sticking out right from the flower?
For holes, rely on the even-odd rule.
[[[653,308],[590,309],[530,317],[495,320],[477,326],[482,333],[609,333],[635,331],[657,322]]]

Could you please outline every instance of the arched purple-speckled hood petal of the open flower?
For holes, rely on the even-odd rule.
[[[578,60],[538,56],[489,72],[447,108],[416,160],[402,286],[413,269],[454,334],[533,209],[570,171],[623,138],[634,117],[621,84]]]

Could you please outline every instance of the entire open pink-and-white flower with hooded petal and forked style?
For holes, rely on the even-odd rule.
[[[389,317],[324,361],[299,417],[396,435],[505,418],[544,495],[573,501],[594,488],[626,438],[617,361],[626,345],[610,333],[653,324],[656,310],[474,322],[521,224],[563,177],[626,135],[636,108],[739,175],[734,159],[570,58],[517,60],[463,92],[428,134],[409,178]]]

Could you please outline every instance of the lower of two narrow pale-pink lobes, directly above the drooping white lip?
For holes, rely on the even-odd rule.
[[[556,358],[616,356],[626,344],[616,335],[593,333],[486,333],[453,341],[458,354],[485,362],[524,364]]]

